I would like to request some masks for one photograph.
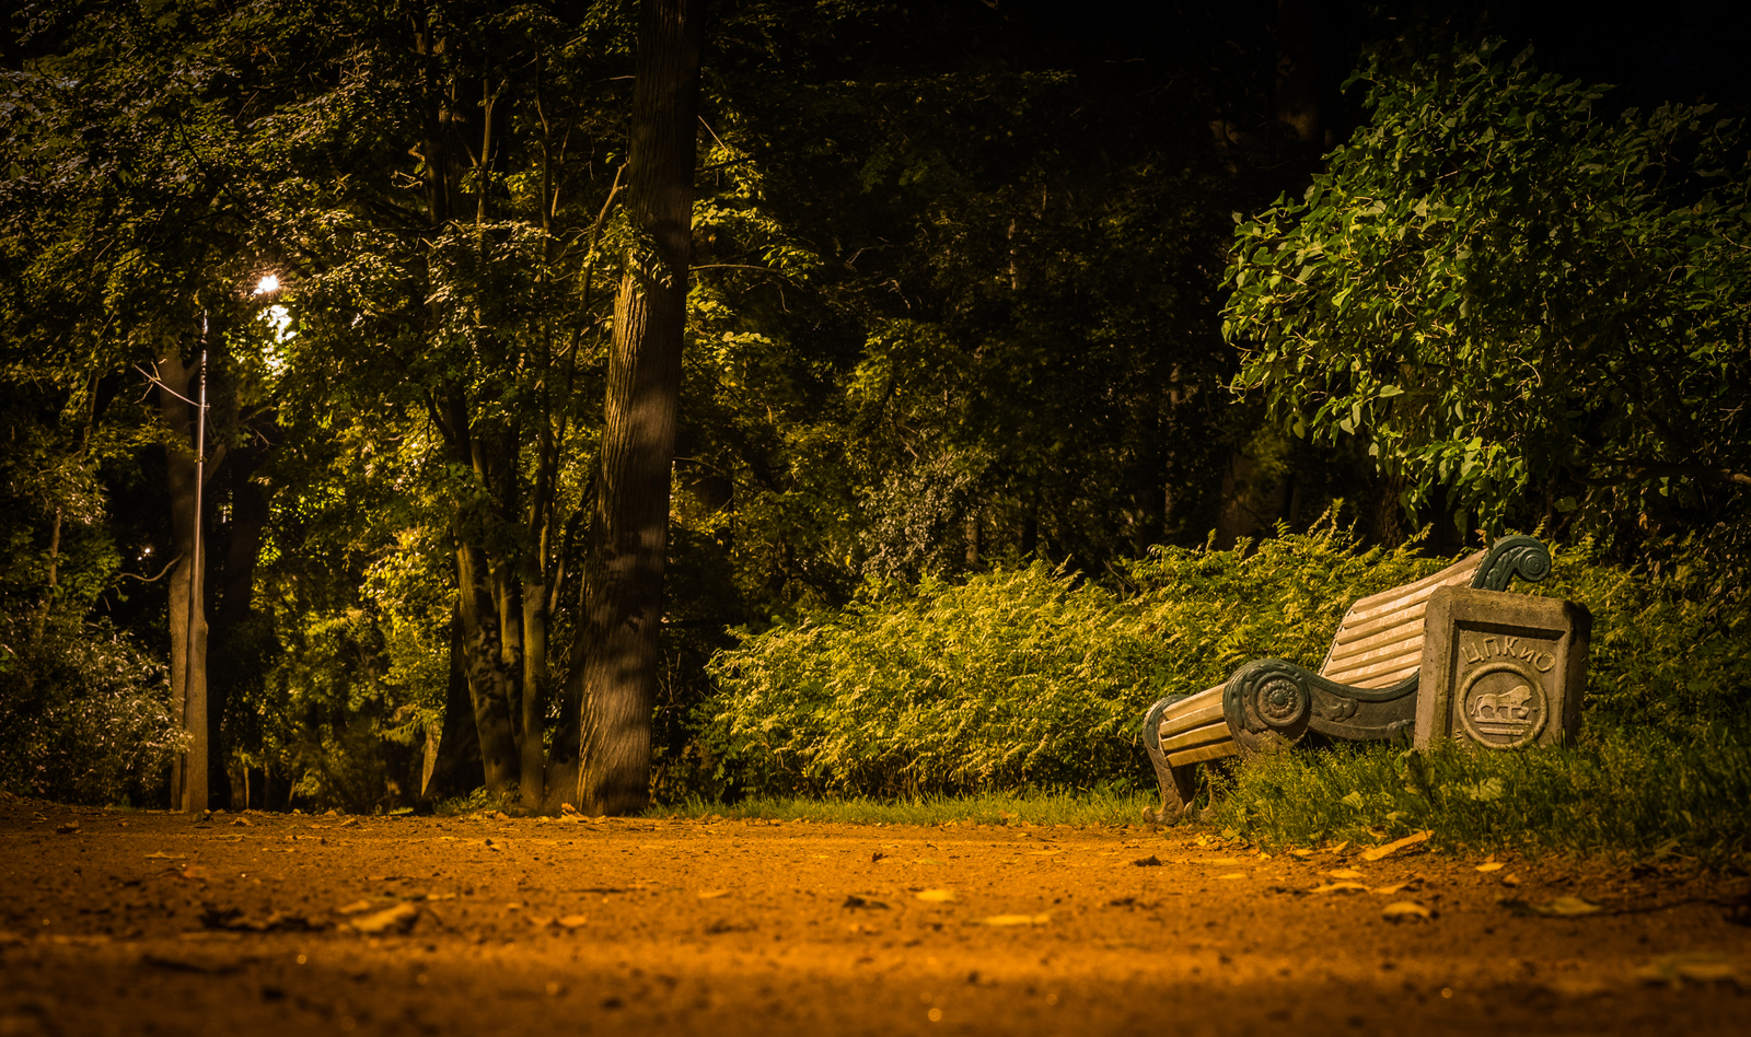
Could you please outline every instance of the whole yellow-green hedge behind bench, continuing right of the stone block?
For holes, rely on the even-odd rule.
[[[1588,730],[1686,739],[1751,704],[1751,638],[1707,566],[1714,547],[1627,571],[1583,545],[1557,552],[1550,585],[1516,585],[1593,613]],[[1266,655],[1317,669],[1350,603],[1446,564],[1327,524],[1231,552],[1157,548],[1124,569],[1124,597],[1044,564],[879,587],[718,655],[700,743],[728,788],[760,795],[1147,787],[1150,702]]]

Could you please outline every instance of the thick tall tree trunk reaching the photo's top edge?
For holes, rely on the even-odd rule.
[[[650,802],[662,569],[681,394],[699,105],[697,0],[644,0],[627,212],[644,231],[615,300],[601,475],[585,582],[580,806]],[[646,236],[648,235],[648,236]],[[648,243],[646,243],[648,242]]]

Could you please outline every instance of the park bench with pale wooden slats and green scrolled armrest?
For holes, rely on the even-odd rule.
[[[1168,695],[1143,715],[1143,748],[1161,781],[1171,820],[1191,808],[1199,764],[1297,744],[1310,734],[1380,741],[1417,723],[1417,669],[1424,611],[1439,587],[1506,590],[1515,576],[1550,575],[1550,550],[1530,536],[1508,536],[1488,550],[1413,583],[1350,606],[1319,673],[1282,659],[1255,659],[1226,681],[1194,695]]]

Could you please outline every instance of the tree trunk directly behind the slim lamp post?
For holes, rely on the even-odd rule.
[[[189,732],[189,748],[179,757],[170,780],[172,809],[207,809],[207,559],[196,554],[200,513],[200,468],[194,427],[200,408],[196,364],[180,356],[158,361],[158,405],[170,438],[165,441],[165,489],[170,494],[170,536],[179,559],[170,573],[170,695],[177,722]]]

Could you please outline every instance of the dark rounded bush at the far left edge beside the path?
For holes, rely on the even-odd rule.
[[[187,734],[165,669],[107,622],[0,618],[0,788],[58,802],[149,802]]]

